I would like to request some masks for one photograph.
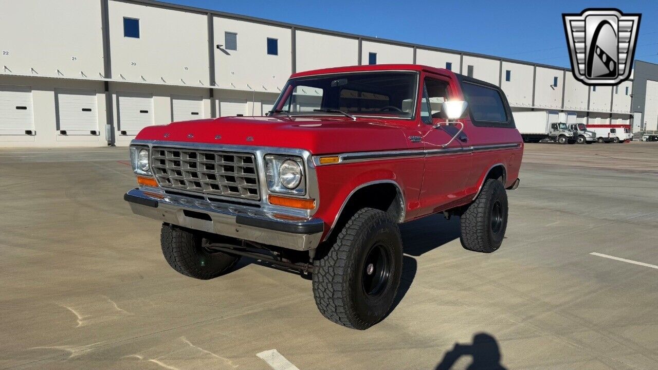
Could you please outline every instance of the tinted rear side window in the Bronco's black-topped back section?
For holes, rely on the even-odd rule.
[[[468,82],[462,84],[462,90],[468,102],[468,110],[474,120],[473,124],[477,126],[478,123],[482,123],[482,125],[509,123],[507,109],[505,109],[503,98],[497,90]]]

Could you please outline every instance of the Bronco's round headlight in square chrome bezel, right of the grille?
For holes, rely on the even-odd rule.
[[[268,154],[265,177],[270,192],[304,195],[304,162],[300,157]]]

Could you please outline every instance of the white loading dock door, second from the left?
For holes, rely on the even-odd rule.
[[[95,90],[55,89],[57,129],[66,135],[98,135]]]

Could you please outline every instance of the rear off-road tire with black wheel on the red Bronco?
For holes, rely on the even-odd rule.
[[[499,213],[494,211],[496,204]],[[486,180],[478,198],[468,205],[459,220],[461,245],[467,250],[482,253],[491,253],[500,248],[507,228],[507,213],[505,186],[499,180]],[[497,220],[497,227],[494,227],[493,219]]]

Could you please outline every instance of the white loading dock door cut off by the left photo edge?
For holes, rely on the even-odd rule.
[[[0,134],[34,135],[32,88],[0,85]]]

